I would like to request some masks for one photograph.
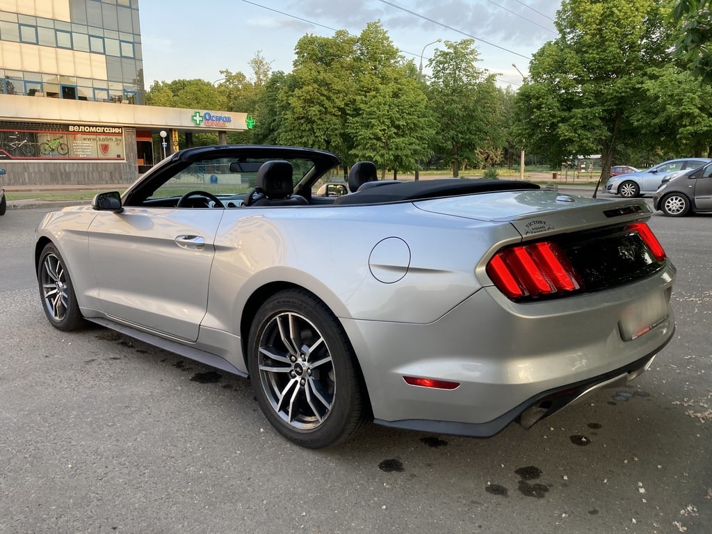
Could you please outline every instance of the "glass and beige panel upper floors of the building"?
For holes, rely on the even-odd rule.
[[[17,5],[0,10],[0,93],[145,104],[138,0]]]

